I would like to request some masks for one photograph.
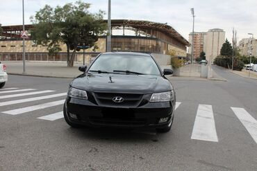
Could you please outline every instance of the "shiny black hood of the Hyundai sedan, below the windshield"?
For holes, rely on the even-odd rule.
[[[160,75],[85,74],[71,86],[92,92],[158,93],[172,90],[172,84]]]

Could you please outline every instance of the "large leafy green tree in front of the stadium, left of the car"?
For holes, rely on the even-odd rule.
[[[106,30],[103,22],[103,11],[92,14],[88,11],[89,3],[76,1],[65,6],[44,6],[36,12],[31,21],[35,24],[31,29],[31,37],[37,44],[47,46],[49,55],[60,52],[60,43],[67,46],[67,66],[73,66],[76,51],[80,46],[97,48],[98,35]],[[70,52],[72,51],[72,55]]]

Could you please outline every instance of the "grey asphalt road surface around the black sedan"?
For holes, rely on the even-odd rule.
[[[13,109],[33,109],[65,99],[56,96],[24,102],[65,93],[71,80],[10,75],[6,89],[0,90],[0,170],[257,170],[257,81],[214,69],[228,81],[173,81],[181,105],[167,134],[73,129],[63,118],[39,118],[62,111],[63,105],[11,115]],[[35,90],[20,91],[23,89]],[[53,91],[8,96],[46,90]],[[201,111],[213,118],[201,116]],[[241,122],[240,118],[249,116],[242,116],[242,111],[251,120]],[[203,137],[207,140],[201,140]]]

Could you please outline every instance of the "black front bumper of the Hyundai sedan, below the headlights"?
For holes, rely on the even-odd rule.
[[[65,114],[71,123],[92,127],[167,127],[175,102],[148,102],[140,107],[99,106],[89,100],[67,98]],[[76,115],[76,118],[71,117]],[[160,118],[167,118],[159,123]]]

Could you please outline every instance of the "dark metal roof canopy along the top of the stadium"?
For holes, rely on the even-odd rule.
[[[107,20],[104,20],[104,21],[107,23]],[[139,30],[142,30],[142,29],[159,30],[160,32],[165,33],[165,35],[168,35],[169,37],[173,37],[174,39],[178,40],[182,44],[185,44],[185,46],[190,46],[190,43],[188,42],[188,40],[186,40],[182,35],[180,35],[174,28],[172,28],[172,26],[169,26],[167,24],[161,24],[161,23],[156,23],[152,21],[143,21],[143,20],[130,20],[130,19],[112,19],[111,24],[112,24],[112,27],[131,26]],[[22,25],[1,26],[1,27],[3,28],[3,35],[6,32],[22,30]],[[33,28],[33,24],[25,25],[25,30],[29,30],[31,28]],[[13,35],[13,37],[17,37],[17,35],[13,33],[9,33],[9,34]]]

